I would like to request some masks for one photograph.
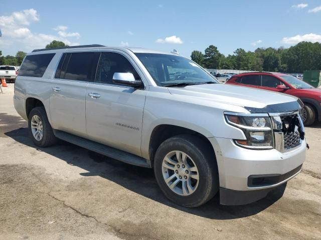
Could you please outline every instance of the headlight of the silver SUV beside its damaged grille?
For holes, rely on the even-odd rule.
[[[242,129],[246,140],[234,139],[242,147],[251,149],[273,148],[273,132],[268,116],[242,116],[225,114],[227,123]]]

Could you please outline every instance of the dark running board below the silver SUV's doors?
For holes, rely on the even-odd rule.
[[[101,144],[92,140],[88,140],[86,138],[76,136],[76,135],[67,133],[65,131],[55,130],[55,129],[53,130],[56,137],[62,140],[68,141],[70,143],[73,143],[75,145],[84,147],[88,150],[98,152],[102,155],[108,156],[110,158],[114,158],[119,161],[123,161],[128,164],[142,166],[142,167],[151,167],[149,160],[142,158],[140,156],[137,156],[110,146],[106,146],[104,144]]]

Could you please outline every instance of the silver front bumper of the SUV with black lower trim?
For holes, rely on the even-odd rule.
[[[287,152],[246,149],[229,138],[210,137],[209,140],[217,159],[221,204],[247,204],[266,196],[297,175],[305,160],[305,139]]]

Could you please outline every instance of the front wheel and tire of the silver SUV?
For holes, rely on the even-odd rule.
[[[168,161],[164,160],[166,156],[173,154],[173,159],[171,158],[171,160],[176,159],[177,161],[178,157],[175,152],[187,154],[187,160],[185,162],[188,163],[185,168],[183,168],[183,164],[180,165],[180,168],[177,168],[179,164],[169,164]],[[183,158],[183,155],[181,155],[180,158]],[[163,163],[166,164],[166,167],[164,167]],[[177,163],[179,163],[179,161],[177,161]],[[174,168],[167,168],[169,165],[172,168],[174,166]],[[193,165],[196,166],[196,168]],[[175,168],[179,170],[178,173],[176,173]],[[193,177],[188,177],[184,180],[184,177],[187,175],[184,173],[184,169],[191,169],[188,172],[190,175],[193,175]],[[193,169],[197,169],[197,171],[193,171]],[[194,178],[196,173],[198,173],[198,180]],[[163,193],[170,200],[186,207],[196,207],[204,204],[210,200],[219,189],[219,175],[215,154],[213,149],[198,136],[178,135],[165,140],[159,145],[154,157],[154,174]],[[169,184],[173,186],[175,182],[179,182],[174,186],[174,190],[170,188],[165,180],[170,179],[173,175],[175,176],[169,181]],[[176,176],[183,177],[179,179],[179,177]],[[183,183],[183,181],[186,183]],[[186,186],[185,192],[183,192],[183,184]],[[189,188],[187,185],[191,187]]]

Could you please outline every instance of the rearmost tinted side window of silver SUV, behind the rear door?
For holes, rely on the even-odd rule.
[[[20,69],[20,76],[42,77],[56,53],[35,54],[26,56]]]

